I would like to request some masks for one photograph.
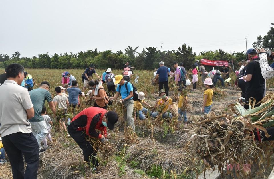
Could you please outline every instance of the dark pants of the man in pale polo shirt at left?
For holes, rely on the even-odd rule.
[[[11,162],[12,175],[14,179],[37,178],[39,166],[39,146],[32,133],[13,133],[2,137],[2,142]],[[24,171],[24,161],[27,168]]]

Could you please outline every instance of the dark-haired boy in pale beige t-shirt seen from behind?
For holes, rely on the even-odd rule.
[[[56,96],[53,98],[53,104],[55,107],[58,104],[59,109],[64,109],[64,114],[67,114],[69,102],[68,99],[63,93],[61,93],[61,88],[57,86],[55,89]],[[67,130],[66,124],[65,124],[65,117],[62,118],[62,121],[59,121],[61,129],[64,127],[64,130]],[[63,125],[63,127],[62,127]]]

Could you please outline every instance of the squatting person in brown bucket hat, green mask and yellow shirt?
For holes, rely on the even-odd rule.
[[[159,91],[159,96],[160,96],[160,99],[157,99],[155,107],[163,109],[162,110],[163,118],[172,118],[172,114],[171,112],[169,112],[171,111],[171,108],[172,108],[172,99],[166,96],[166,92],[163,89]],[[156,111],[152,113],[151,116],[156,118],[158,115],[159,115],[159,112]]]

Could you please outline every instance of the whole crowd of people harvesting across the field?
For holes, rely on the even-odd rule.
[[[244,101],[245,109],[249,109],[249,104],[256,100],[255,107],[260,105],[261,99],[266,93],[265,79],[274,76],[274,63],[270,66],[267,60],[273,60],[274,52],[269,56],[264,49],[247,50],[247,61],[240,62],[241,68],[235,71],[237,80],[235,86],[241,89],[241,98]],[[5,153],[9,157],[13,178],[37,178],[39,166],[39,155],[47,150],[51,143],[52,118],[57,117],[57,110],[62,111],[59,117],[59,126],[67,131],[68,137],[83,150],[85,162],[91,162],[93,170],[97,170],[98,160],[93,142],[87,142],[86,138],[98,138],[101,142],[108,141],[107,128],[114,129],[119,116],[115,111],[108,111],[108,105],[112,101],[120,98],[124,106],[124,120],[135,133],[135,121],[137,117],[145,120],[152,118],[172,118],[173,102],[170,97],[169,79],[172,78],[180,91],[178,97],[178,121],[184,120],[187,125],[186,104],[188,97],[184,93],[190,85],[186,69],[183,63],[173,62],[172,67],[164,66],[164,62],[159,62],[154,82],[158,81],[159,97],[154,106],[145,101],[145,93],[137,92],[136,87],[130,82],[134,67],[128,62],[124,65],[124,71],[115,75],[108,68],[100,77],[95,70],[95,65],[91,64],[82,74],[84,83],[83,89],[79,89],[78,81],[69,72],[62,73],[62,86],[55,87],[55,96],[49,92],[50,84],[47,81],[40,83],[34,89],[34,79],[24,71],[20,64],[11,64],[5,69],[5,73],[0,75],[0,164],[7,162]],[[234,68],[234,66],[233,66]],[[217,80],[229,80],[229,69],[222,66],[220,70],[207,72],[202,63],[197,60],[193,65],[192,91],[197,90],[198,74],[206,87],[203,96],[201,111],[209,113],[213,104],[213,89]],[[93,74],[96,79],[93,79]],[[225,80],[223,79],[225,78]],[[138,78],[137,78],[138,82]],[[106,83],[107,90],[103,87]],[[136,83],[136,80],[135,80]],[[137,83],[136,83],[137,84]],[[89,88],[87,94],[84,92]],[[67,94],[68,93],[68,94]],[[91,96],[90,96],[91,95]],[[78,114],[73,114],[72,120],[66,121],[65,115],[68,109],[75,109],[80,106],[80,97],[88,96],[87,99],[94,100],[94,106],[88,107]],[[53,116],[47,115],[45,107],[47,101]],[[145,105],[146,107],[143,107]],[[101,131],[98,133],[96,130]],[[41,145],[43,142],[43,145]],[[23,157],[24,156],[24,157]],[[24,169],[24,162],[27,168]]]

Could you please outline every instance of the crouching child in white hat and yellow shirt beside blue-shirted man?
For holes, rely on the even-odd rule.
[[[148,107],[151,107],[148,103],[146,103],[145,101],[145,93],[143,92],[139,92],[138,93],[138,100],[134,101],[134,107],[135,109],[138,110],[138,113],[136,113],[136,116],[139,117],[140,120],[146,119],[146,114],[148,113],[149,115],[151,114],[151,112],[146,109],[145,107],[143,107],[142,104],[145,104]]]

